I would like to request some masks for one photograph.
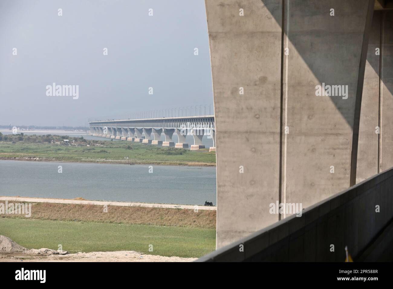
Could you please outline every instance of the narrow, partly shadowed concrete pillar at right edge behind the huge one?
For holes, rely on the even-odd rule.
[[[392,25],[393,11],[374,11],[360,110],[356,182],[393,166]]]

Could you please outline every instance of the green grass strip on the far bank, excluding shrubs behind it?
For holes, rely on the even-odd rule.
[[[175,149],[173,147],[159,147],[156,145],[143,145],[127,141],[104,141],[104,145],[68,146],[56,144],[26,144],[17,142],[0,142],[0,157],[2,159],[39,157],[50,158],[54,161],[70,162],[99,162],[114,160],[127,162],[125,156],[133,163],[168,163],[189,164],[192,162],[215,164],[215,152],[208,149],[190,151],[188,149]],[[131,149],[130,149],[131,148]]]

